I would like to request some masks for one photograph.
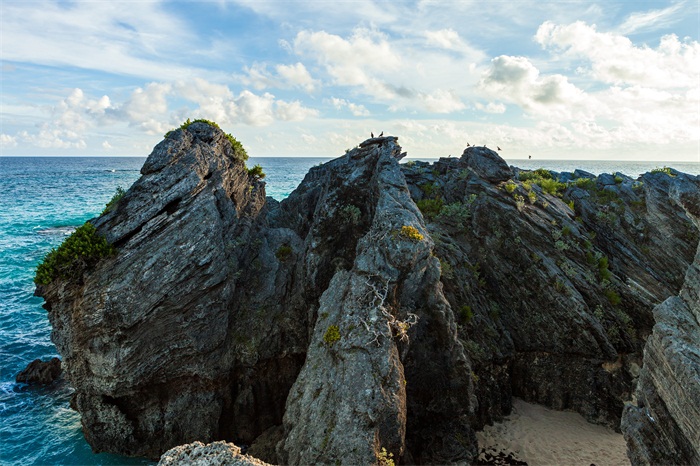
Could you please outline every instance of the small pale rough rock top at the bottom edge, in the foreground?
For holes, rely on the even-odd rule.
[[[249,455],[233,443],[213,442],[208,445],[193,442],[181,445],[163,453],[158,466],[187,464],[191,466],[269,466]]]

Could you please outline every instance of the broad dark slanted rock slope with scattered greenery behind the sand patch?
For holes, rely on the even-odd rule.
[[[477,380],[472,426],[508,414],[512,395],[619,426],[651,310],[678,292],[698,241],[671,178],[572,183],[572,210],[517,177],[498,185],[456,160],[434,165],[403,167],[417,201],[442,205],[426,210],[428,231]]]

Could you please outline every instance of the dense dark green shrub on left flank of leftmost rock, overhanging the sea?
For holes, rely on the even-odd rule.
[[[57,278],[75,278],[117,250],[92,223],[78,227],[58,248],[49,251],[36,268],[34,283],[48,285]]]

